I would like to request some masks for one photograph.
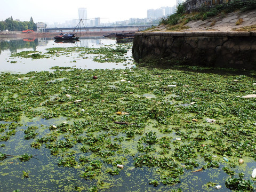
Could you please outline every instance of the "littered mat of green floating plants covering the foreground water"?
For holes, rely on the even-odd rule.
[[[0,75],[0,191],[255,191],[255,71],[53,69]]]

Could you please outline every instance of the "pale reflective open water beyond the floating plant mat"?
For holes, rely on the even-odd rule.
[[[47,48],[51,47],[94,47],[98,48],[104,45],[115,45],[115,39],[106,38],[81,38],[80,41],[75,43],[70,42],[55,42],[54,39],[41,38],[33,39],[34,41],[28,42],[28,39],[13,39],[9,41],[0,42],[0,72],[5,73],[28,73],[29,71],[44,71],[49,70],[53,66],[59,67],[74,67],[81,69],[111,69],[119,68],[124,69],[126,67],[133,66],[123,65],[124,63],[99,63],[92,59],[78,58],[78,53],[72,53],[70,57],[66,55],[61,55],[61,57],[53,59],[39,59],[36,61],[31,61],[31,58],[19,58],[16,63],[11,63],[11,61],[17,61],[17,59],[11,59],[10,55],[12,52],[21,51],[38,51],[45,53]],[[127,53],[128,57],[131,57],[131,50]],[[73,61],[76,61],[75,63]],[[71,63],[70,63],[71,62]]]

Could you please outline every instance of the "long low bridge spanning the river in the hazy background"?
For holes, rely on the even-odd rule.
[[[126,26],[105,26],[105,27],[81,27],[85,31],[141,31],[157,25],[126,25]],[[73,31],[73,28],[45,28],[45,32]]]

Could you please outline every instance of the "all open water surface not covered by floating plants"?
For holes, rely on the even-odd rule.
[[[26,74],[30,71],[53,71],[51,68],[55,66],[93,70],[133,68],[135,65],[132,60],[131,47],[126,54],[126,62],[97,62],[93,60],[95,54],[85,55],[82,51],[41,59],[11,57],[12,53],[22,51],[37,51],[44,54],[47,52],[46,49],[54,47],[100,48],[102,46],[116,47],[119,45],[115,39],[105,38],[84,38],[75,43],[55,43],[53,39],[34,39],[34,41],[27,41],[26,39],[3,40],[0,42],[0,72],[2,74]],[[17,132],[13,135],[10,132],[11,137],[9,140],[4,141],[2,138],[2,141],[0,141],[0,152],[10,156],[6,156],[7,158],[0,161],[0,191],[215,191],[217,190],[215,189],[217,185],[222,186],[218,191],[231,191],[225,187],[225,181],[229,178],[229,175],[222,170],[223,167],[227,166],[227,162],[223,161],[221,157],[218,157],[220,162],[218,168],[213,166],[197,172],[184,169],[184,173],[180,175],[179,182],[174,182],[174,185],[163,185],[161,182],[157,183],[157,180],[160,180],[158,174],[159,167],[135,167],[133,162],[135,154],[123,156],[121,160],[125,162],[124,169],[119,174],[115,174],[115,169],[111,168],[111,163],[108,164],[106,159],[106,162],[101,161],[101,164],[98,165],[97,162],[93,163],[93,154],[90,151],[87,151],[87,155],[90,156],[91,163],[81,161],[81,164],[78,163],[76,166],[58,166],[61,155],[52,155],[52,151],[46,147],[41,147],[40,149],[33,148],[31,147],[31,142],[35,139],[24,139],[25,134],[23,130],[26,130],[27,127],[44,127],[42,130],[40,128],[37,130],[37,138],[40,138],[51,132],[49,129],[45,129],[45,127],[51,127],[66,121],[67,118],[64,117],[39,118],[37,116],[32,119],[22,118],[18,122],[22,125],[18,126]],[[0,121],[2,127],[3,124],[9,125],[10,123]],[[1,137],[6,133],[6,130],[2,130],[2,133],[0,133]],[[10,127],[9,130],[11,130]],[[123,136],[125,137],[125,134]],[[177,137],[175,135],[172,136]],[[61,138],[63,143],[66,142],[64,138]],[[136,146],[132,146],[133,141],[130,141],[128,138],[127,142],[130,142],[130,150],[136,149]],[[80,148],[81,145],[77,144],[72,150],[81,151]],[[66,155],[65,152],[65,150],[62,151],[62,157]],[[31,154],[33,157],[29,161],[21,161],[18,157],[25,153]],[[70,155],[72,152],[69,151],[68,153]],[[214,158],[216,157],[214,156]],[[254,167],[256,167],[256,163],[253,158],[245,158],[244,160],[244,164],[236,166],[235,176],[238,177],[237,173],[244,172],[245,180],[251,180],[251,173]],[[79,162],[78,155],[76,161]],[[200,160],[198,162],[198,169],[200,169],[202,162],[200,163]],[[85,166],[82,163],[85,163]],[[142,163],[146,164],[145,162]],[[101,170],[100,172],[95,172],[95,175],[91,175],[91,178],[88,175],[87,178],[83,178],[81,177],[83,171],[89,169],[86,166],[91,167],[92,171],[95,167],[99,166],[98,168],[101,168]],[[167,164],[166,166],[171,165]],[[99,171],[98,168],[96,169],[97,171]],[[106,171],[110,168],[112,171]],[[29,174],[28,178],[24,177],[24,172]],[[101,172],[111,174],[101,174]],[[97,174],[101,174],[101,178],[93,179]],[[155,186],[154,181],[157,183]],[[255,180],[252,185],[255,187]]]

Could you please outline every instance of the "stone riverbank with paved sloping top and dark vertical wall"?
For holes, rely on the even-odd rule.
[[[182,18],[191,17],[191,14]],[[239,23],[238,23],[239,22]],[[239,25],[238,25],[239,24]],[[185,25],[161,25],[136,33],[137,62],[256,69],[256,10],[219,14]],[[255,31],[253,31],[255,30]]]

